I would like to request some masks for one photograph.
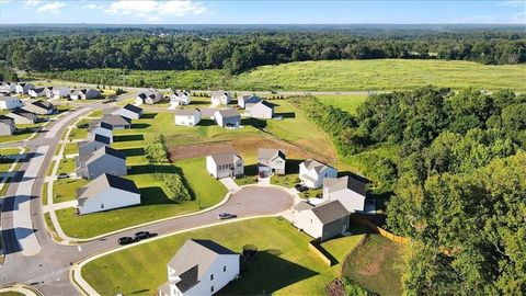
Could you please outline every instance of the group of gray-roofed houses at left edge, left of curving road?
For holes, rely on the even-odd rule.
[[[38,115],[57,112],[57,109],[47,101],[24,104],[16,96],[0,96],[0,110],[10,110],[10,113],[0,115],[0,136],[13,135],[18,124],[35,124],[42,121]]]

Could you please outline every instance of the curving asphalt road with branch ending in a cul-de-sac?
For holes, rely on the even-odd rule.
[[[108,109],[111,105],[91,105],[91,107]],[[88,106],[81,107],[76,116],[61,116],[57,122],[46,126],[46,128],[34,139],[25,143],[30,149],[27,158],[22,162],[19,172],[15,174],[13,182],[10,184],[7,197],[2,208],[1,226],[2,238],[5,246],[5,262],[0,269],[0,285],[26,284],[31,285],[44,295],[78,295],[79,292],[69,281],[69,270],[73,262],[87,259],[96,253],[117,248],[117,238],[123,236],[133,236],[138,228],[111,235],[94,241],[85,242],[77,247],[62,246],[55,243],[44,221],[42,212],[41,192],[43,182],[49,168],[55,149],[59,143],[59,137],[64,130],[73,123],[78,116],[90,111]],[[49,132],[50,130],[50,132]],[[46,135],[54,135],[54,137]],[[32,175],[31,185],[23,183],[27,181],[26,170],[33,161],[35,161],[35,152],[38,147],[47,146],[44,158],[41,160],[42,166],[37,173]],[[39,151],[43,151],[41,148]],[[27,198],[16,197],[20,192],[21,184],[31,186],[31,196]],[[24,189],[27,191],[28,189]],[[23,207],[28,208],[27,218],[32,224],[32,229],[16,229],[15,220],[24,215],[20,210],[21,203]],[[28,203],[28,204],[27,204]],[[231,198],[215,209],[209,212],[173,218],[160,221],[140,230],[147,230],[152,234],[164,235],[173,231],[206,226],[217,223],[219,213],[228,212],[239,217],[249,217],[255,215],[277,214],[289,208],[293,204],[293,197],[285,191],[275,187],[247,186],[236,192]],[[34,251],[35,254],[26,255],[22,250],[21,243],[26,237],[34,236],[39,248]]]

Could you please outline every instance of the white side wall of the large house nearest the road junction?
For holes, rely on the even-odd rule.
[[[79,212],[80,214],[89,214],[136,204],[140,204],[140,194],[108,189],[87,200],[83,206],[79,206]]]

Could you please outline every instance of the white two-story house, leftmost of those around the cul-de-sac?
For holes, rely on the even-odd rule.
[[[215,179],[241,178],[244,175],[244,163],[235,153],[213,155],[206,157],[206,170]]]

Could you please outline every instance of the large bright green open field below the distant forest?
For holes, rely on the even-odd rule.
[[[426,84],[461,89],[526,90],[526,65],[371,59],[319,60],[262,66],[232,81],[237,90],[407,90]]]

